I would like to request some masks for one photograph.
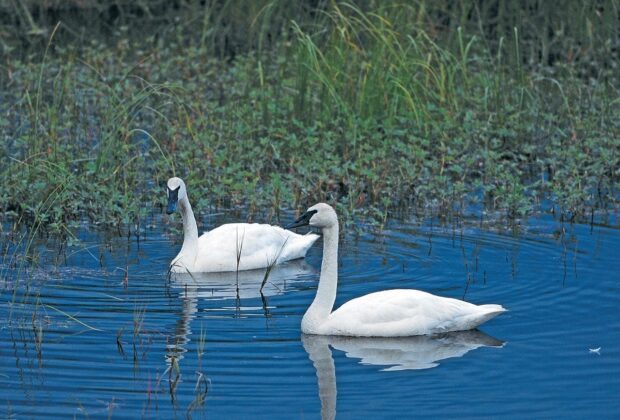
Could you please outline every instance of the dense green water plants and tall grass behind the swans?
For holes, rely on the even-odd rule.
[[[19,223],[136,225],[172,175],[249,218],[617,206],[614,0],[91,3],[0,14]]]

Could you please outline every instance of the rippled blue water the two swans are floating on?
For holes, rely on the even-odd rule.
[[[5,255],[0,417],[620,416],[615,222],[347,232],[337,306],[418,288],[509,309],[478,332],[393,340],[302,336],[320,240],[262,296],[262,271],[168,279],[178,223],[156,218],[139,243],[84,227],[27,269]]]

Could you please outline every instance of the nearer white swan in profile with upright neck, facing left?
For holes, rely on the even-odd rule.
[[[338,217],[328,204],[312,206],[286,226],[316,226],[323,231],[323,262],[314,301],[304,314],[306,334],[356,337],[406,337],[464,331],[502,313],[501,305],[474,305],[413,289],[371,293],[332,312],[338,283]]]

